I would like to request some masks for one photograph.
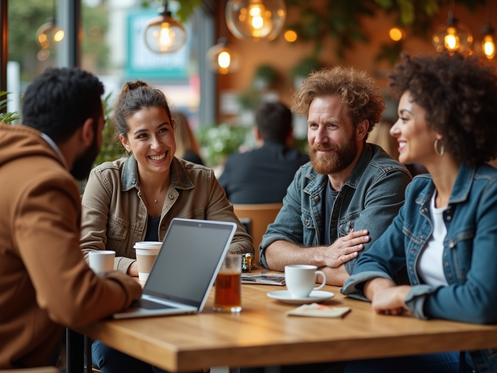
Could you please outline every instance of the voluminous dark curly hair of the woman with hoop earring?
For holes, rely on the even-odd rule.
[[[394,98],[409,91],[456,160],[478,165],[497,156],[497,77],[477,57],[403,52],[389,78]]]

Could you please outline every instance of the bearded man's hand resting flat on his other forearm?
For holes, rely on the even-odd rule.
[[[323,261],[326,267],[337,268],[351,259],[357,258],[358,252],[364,249],[364,243],[370,240],[365,229],[350,231],[346,236],[338,238],[330,246],[323,247]]]

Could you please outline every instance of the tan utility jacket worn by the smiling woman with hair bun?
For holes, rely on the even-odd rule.
[[[250,236],[233,212],[233,206],[206,167],[173,158],[159,225],[164,240],[172,218],[231,221],[238,225],[231,253],[254,252]],[[83,194],[81,248],[85,259],[92,250],[114,250],[114,269],[126,273],[136,260],[134,244],[147,232],[147,208],[138,185],[138,164],[132,155],[105,162],[91,171]]]

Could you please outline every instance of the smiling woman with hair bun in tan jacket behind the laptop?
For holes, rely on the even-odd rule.
[[[254,252],[213,171],[174,156],[176,124],[162,91],[128,82],[113,115],[129,156],[90,173],[82,199],[85,259],[90,251],[114,250],[114,269],[138,276],[134,244],[162,241],[174,217],[234,222],[238,228],[229,252]],[[92,351],[93,364],[104,373],[160,371],[100,341]]]

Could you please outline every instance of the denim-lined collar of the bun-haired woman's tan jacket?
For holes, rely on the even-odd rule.
[[[195,187],[186,174],[183,165],[176,157],[172,158],[170,173],[173,187],[177,189],[191,189]],[[124,163],[121,172],[121,190],[129,190],[131,188],[140,189],[138,187],[138,162],[133,154]]]

